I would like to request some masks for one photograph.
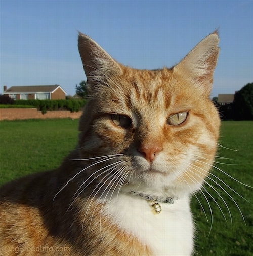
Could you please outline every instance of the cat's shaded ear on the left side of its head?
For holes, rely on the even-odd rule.
[[[103,77],[121,74],[119,64],[93,39],[79,32],[78,49],[89,83]]]

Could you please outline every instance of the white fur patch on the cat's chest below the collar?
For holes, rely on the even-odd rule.
[[[189,199],[174,204],[160,203],[162,212],[154,215],[147,200],[119,194],[104,209],[118,227],[148,245],[154,256],[190,256],[193,250],[193,222]]]

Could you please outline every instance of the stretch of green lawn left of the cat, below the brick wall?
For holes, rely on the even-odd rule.
[[[0,121],[0,184],[58,167],[75,148],[78,120]]]

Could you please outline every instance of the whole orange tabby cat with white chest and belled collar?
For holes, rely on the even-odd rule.
[[[218,33],[177,65],[137,70],[79,34],[89,102],[62,165],[0,190],[1,255],[192,255],[189,197],[213,163]]]

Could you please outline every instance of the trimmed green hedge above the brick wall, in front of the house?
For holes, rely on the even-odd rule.
[[[58,100],[39,100],[39,99],[28,99],[28,100],[15,100],[14,105],[30,105],[36,107],[43,114],[47,111],[52,110],[69,110],[71,112],[78,112],[87,103],[86,99],[58,99]]]

